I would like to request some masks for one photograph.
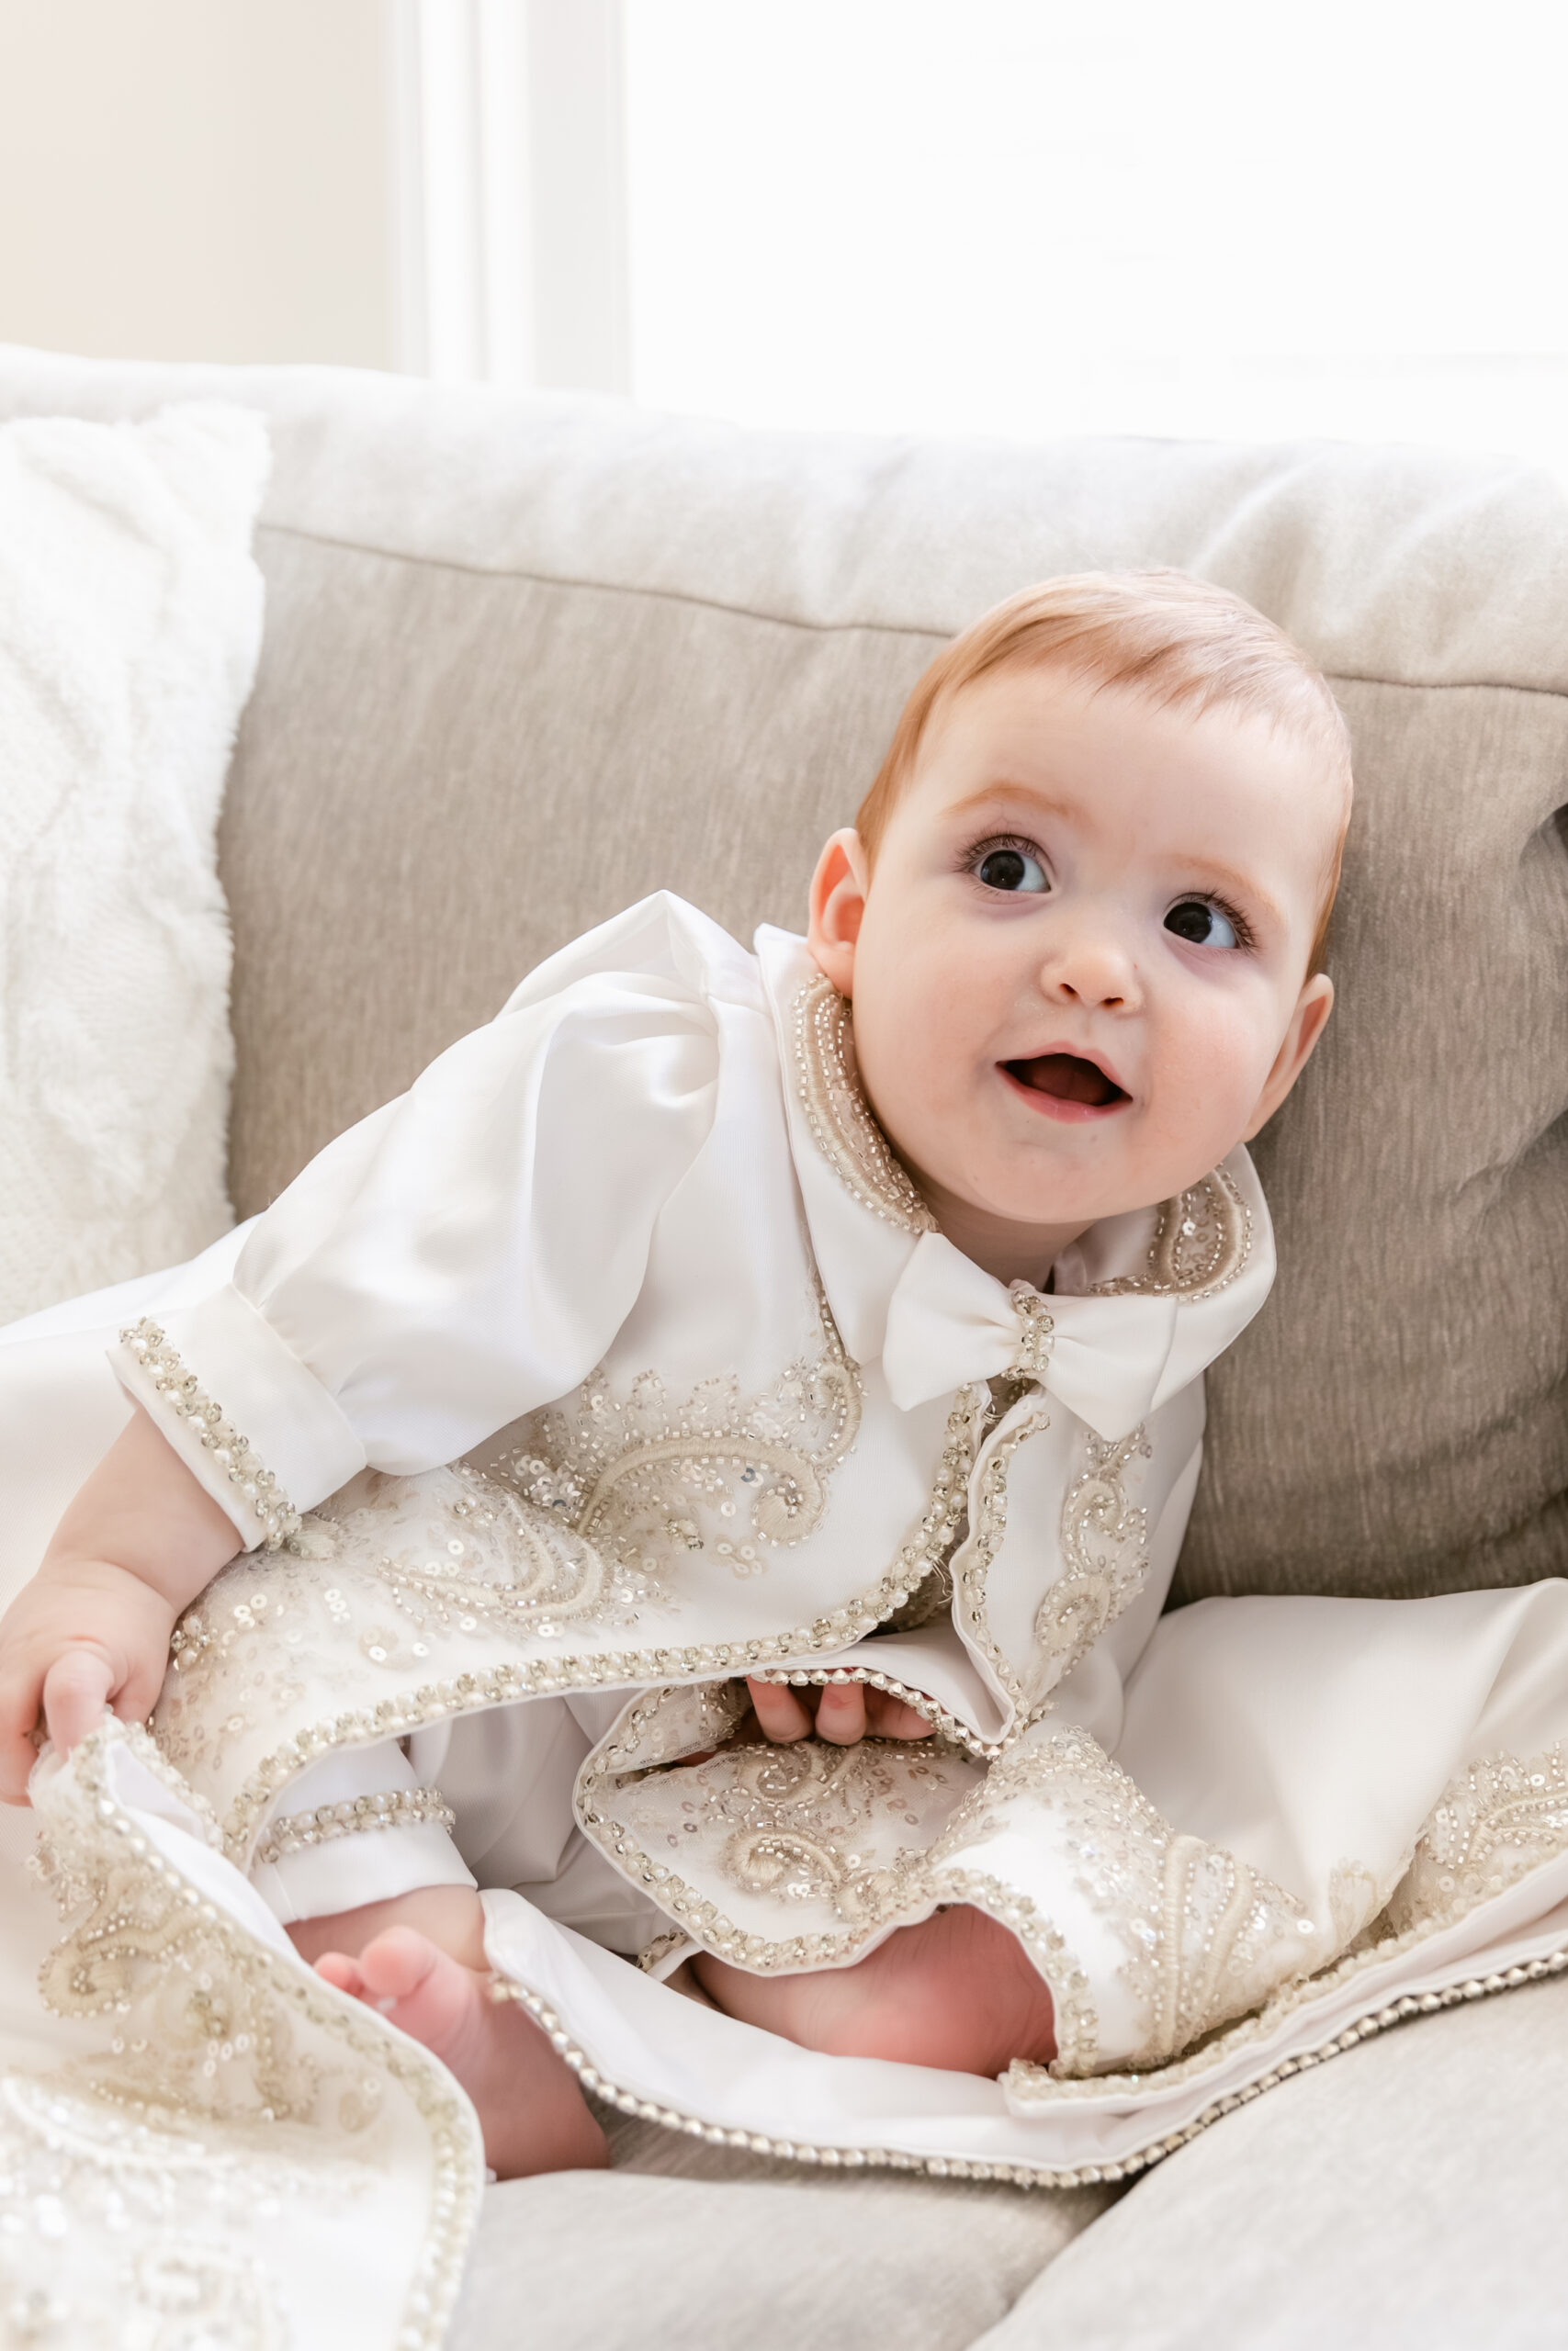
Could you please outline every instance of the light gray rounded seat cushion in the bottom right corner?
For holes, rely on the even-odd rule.
[[[976,2351],[1561,2351],[1568,1982],[1422,2017],[1241,2106]]]

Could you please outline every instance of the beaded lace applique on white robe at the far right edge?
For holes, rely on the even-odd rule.
[[[1432,1808],[1380,1921],[1394,1935],[1450,1925],[1568,1850],[1568,1756],[1486,1756]]]

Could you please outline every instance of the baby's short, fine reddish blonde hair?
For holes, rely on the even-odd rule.
[[[1187,571],[1074,571],[1023,588],[971,623],[922,672],[877,781],[860,802],[856,832],[867,858],[898,806],[931,712],[976,677],[1001,668],[1058,668],[1091,686],[1121,686],[1161,710],[1237,710],[1321,750],[1345,813],[1324,872],[1324,898],[1307,971],[1324,969],[1349,825],[1349,729],[1328,679],[1281,628],[1239,595]]]

